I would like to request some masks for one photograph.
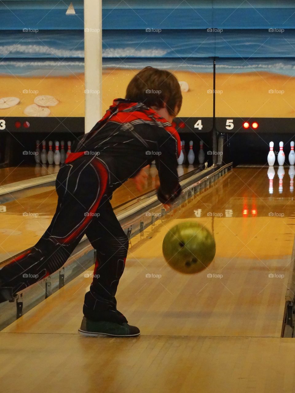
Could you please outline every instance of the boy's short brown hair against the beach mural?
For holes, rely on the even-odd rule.
[[[132,102],[142,102],[147,107],[166,108],[171,116],[180,111],[183,97],[176,77],[169,71],[145,67],[129,82],[126,97]],[[177,113],[175,108],[177,107]]]

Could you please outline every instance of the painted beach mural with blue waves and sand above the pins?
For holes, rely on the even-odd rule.
[[[9,3],[13,12],[8,13],[4,3]],[[140,27],[137,19],[132,22],[130,7],[118,6],[112,14],[112,3],[105,2],[103,112],[114,98],[124,97],[127,83],[135,73],[150,65],[170,70],[182,82],[183,107],[179,117],[211,118],[216,57],[216,116],[295,117],[295,30],[269,31],[269,26],[263,28],[263,18],[255,22],[262,28],[245,29],[246,17],[240,21],[240,28],[226,29],[225,20],[232,18],[230,6],[222,7],[222,12],[214,9],[212,14],[212,4],[220,6],[222,2],[204,0],[198,4],[202,4],[201,16],[193,14],[197,28],[192,28],[192,17],[181,20],[179,25],[175,12],[169,23],[176,28],[159,28],[166,14],[165,7],[158,4],[151,29],[147,27],[150,8],[138,11],[138,15],[147,18]],[[1,117],[84,116],[83,1],[73,2],[75,15],[66,16],[69,6],[70,2],[54,0],[0,3],[4,16],[0,28]],[[180,12],[193,13],[188,7]],[[253,7],[243,8],[244,15],[253,12]],[[271,20],[277,9],[268,9],[267,13]],[[116,29],[111,22],[114,15],[118,20]],[[288,26],[292,18],[288,19]],[[31,26],[25,23],[27,20]],[[134,29],[130,29],[132,26]]]

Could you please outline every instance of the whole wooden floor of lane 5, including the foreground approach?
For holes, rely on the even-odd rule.
[[[117,299],[140,337],[77,333],[91,270],[0,332],[3,391],[293,393],[295,342],[280,338],[293,213],[265,175],[236,169],[131,240]],[[190,277],[166,266],[161,243],[194,219],[214,230],[217,253]]]

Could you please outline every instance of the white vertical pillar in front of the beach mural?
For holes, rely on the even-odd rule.
[[[84,0],[85,132],[101,119],[102,0]]]

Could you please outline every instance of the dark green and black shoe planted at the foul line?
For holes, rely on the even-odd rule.
[[[90,321],[83,317],[81,327],[78,331],[84,336],[112,336],[112,337],[136,337],[140,330],[128,323],[114,323],[109,321]]]

